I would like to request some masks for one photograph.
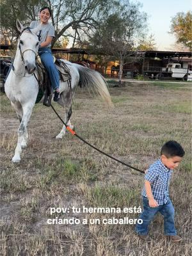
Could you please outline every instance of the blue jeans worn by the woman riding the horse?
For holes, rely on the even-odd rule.
[[[38,50],[38,54],[47,69],[52,89],[56,90],[60,86],[60,75],[56,65],[54,65],[51,49],[48,47],[41,47]]]

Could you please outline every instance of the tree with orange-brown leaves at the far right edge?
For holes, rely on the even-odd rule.
[[[182,43],[192,50],[192,12],[179,12],[172,18],[171,31],[177,38],[177,43]]]

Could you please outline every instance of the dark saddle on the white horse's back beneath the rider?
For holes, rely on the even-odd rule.
[[[65,64],[64,61],[61,61],[60,59],[56,59],[54,57],[54,63],[56,65],[56,68],[58,68],[58,72],[60,74],[60,80],[63,82],[67,82],[69,93],[71,94],[72,88],[71,88],[71,75],[70,70]],[[36,74],[35,78],[38,81],[39,84],[39,90],[38,95],[36,97],[36,102],[40,102],[42,97],[44,97],[43,104],[47,107],[51,106],[51,99],[52,99],[52,89],[51,89],[51,81],[49,79],[49,74],[44,66],[44,63],[42,63],[40,56],[37,56],[36,58]]]

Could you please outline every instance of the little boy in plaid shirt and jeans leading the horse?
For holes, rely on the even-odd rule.
[[[142,191],[143,212],[140,219],[143,223],[136,225],[136,233],[143,241],[152,242],[148,236],[148,225],[155,214],[160,212],[164,216],[164,234],[173,242],[179,242],[174,224],[174,208],[169,197],[168,187],[170,178],[177,166],[179,166],[184,149],[176,141],[168,141],[161,148],[161,157],[150,166],[145,175],[145,184]]]

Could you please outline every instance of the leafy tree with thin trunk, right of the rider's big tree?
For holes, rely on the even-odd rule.
[[[145,31],[147,15],[140,12],[140,4],[120,1],[115,13],[111,13],[100,23],[98,29],[89,38],[89,44],[100,53],[111,55],[119,61],[119,81],[122,83],[125,60],[134,56],[134,42],[138,34]]]

